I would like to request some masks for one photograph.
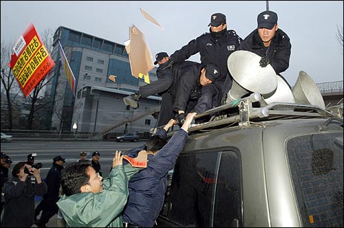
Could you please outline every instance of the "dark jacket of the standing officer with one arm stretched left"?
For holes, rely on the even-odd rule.
[[[201,64],[206,67],[213,64],[219,68],[221,75],[217,78],[217,86],[222,87],[227,75],[230,76],[227,60],[230,54],[239,47],[242,39],[234,30],[222,30],[221,32],[206,32],[193,39],[181,49],[171,55],[173,62],[180,62],[200,53]],[[230,85],[232,77],[230,76]]]

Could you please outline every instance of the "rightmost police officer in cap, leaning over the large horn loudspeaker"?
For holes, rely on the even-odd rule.
[[[288,35],[279,28],[277,20],[276,12],[264,11],[258,14],[257,29],[242,41],[239,50],[246,50],[261,56],[259,65],[266,67],[270,64],[281,76],[280,73],[289,67],[292,45]],[[281,78],[285,80],[282,76]]]

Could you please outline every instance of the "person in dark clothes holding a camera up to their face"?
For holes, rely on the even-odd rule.
[[[34,225],[34,196],[43,196],[47,185],[41,171],[22,161],[12,170],[12,179],[5,183],[5,206],[1,227],[31,227]],[[31,176],[34,177],[33,183]]]

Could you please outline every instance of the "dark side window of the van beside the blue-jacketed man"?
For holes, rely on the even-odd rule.
[[[180,155],[169,172],[162,214],[188,227],[240,226],[240,173],[233,151]]]

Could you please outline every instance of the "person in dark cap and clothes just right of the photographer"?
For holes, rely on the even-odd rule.
[[[41,218],[36,221],[37,227],[45,227],[45,224],[49,222],[50,218],[58,212],[56,202],[60,199],[59,190],[63,163],[65,163],[65,159],[63,157],[54,157],[52,168],[50,168],[47,173],[47,177],[45,178],[45,182],[47,183],[47,194],[43,196],[43,201],[41,201],[43,204],[43,210]]]

